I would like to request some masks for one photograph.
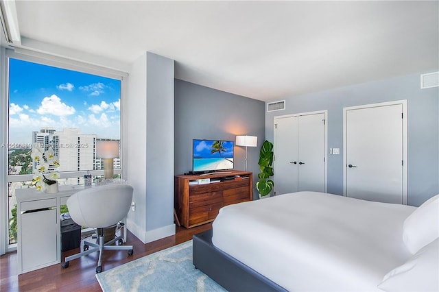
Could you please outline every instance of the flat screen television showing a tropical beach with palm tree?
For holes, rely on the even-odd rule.
[[[193,139],[193,172],[233,169],[233,141]]]

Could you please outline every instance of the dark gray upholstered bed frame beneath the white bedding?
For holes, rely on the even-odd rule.
[[[212,230],[193,235],[192,263],[227,291],[287,291],[213,246]]]

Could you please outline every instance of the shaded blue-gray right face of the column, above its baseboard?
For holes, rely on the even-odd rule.
[[[174,224],[174,60],[147,52],[146,75],[148,232]]]

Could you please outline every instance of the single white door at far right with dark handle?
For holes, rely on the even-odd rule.
[[[405,104],[345,109],[345,195],[406,204]]]

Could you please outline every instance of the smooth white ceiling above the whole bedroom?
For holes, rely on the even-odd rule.
[[[265,101],[439,67],[438,1],[16,1],[33,41]]]

